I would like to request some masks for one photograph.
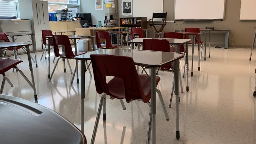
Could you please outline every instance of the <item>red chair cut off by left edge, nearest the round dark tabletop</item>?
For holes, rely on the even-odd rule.
[[[32,87],[32,83],[29,81],[29,79],[25,76],[25,74],[16,67],[17,64],[23,62],[22,60],[16,60],[16,59],[0,59],[0,74],[3,75],[3,81],[1,84],[0,93],[3,93],[4,86],[5,86],[5,80],[9,82],[11,86],[13,86],[10,82],[10,80],[5,76],[5,72],[9,71],[10,69],[14,68],[16,71],[20,72],[20,74],[25,78],[25,80],[29,83],[29,85]]]

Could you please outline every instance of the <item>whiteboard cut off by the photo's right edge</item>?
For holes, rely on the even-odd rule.
[[[255,0],[241,0],[240,20],[256,20],[255,6]]]

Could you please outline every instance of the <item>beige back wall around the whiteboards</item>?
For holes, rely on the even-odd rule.
[[[115,0],[116,8],[109,8],[110,11],[120,10],[117,9],[118,3],[121,0]],[[163,31],[174,31],[186,27],[215,27],[215,29],[229,29],[229,48],[232,48],[232,39],[235,47],[250,48],[252,39],[255,32],[253,27],[256,27],[256,20],[239,20],[241,0],[226,0],[225,19],[221,22],[214,21],[176,21],[168,22]],[[210,6],[210,4],[209,4]],[[146,7],[146,5],[145,5]],[[142,8],[143,10],[143,8]],[[196,10],[196,8],[195,8]],[[174,0],[163,0],[163,12],[167,11],[167,20],[172,21],[174,18]],[[81,0],[81,12],[92,13],[93,23],[96,21],[104,20],[104,13],[107,10],[95,10],[94,0]],[[189,12],[184,10],[184,12]],[[203,12],[203,11],[202,11]],[[218,39],[218,35],[213,35],[211,39]]]

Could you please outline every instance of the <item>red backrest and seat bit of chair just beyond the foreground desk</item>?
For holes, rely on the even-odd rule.
[[[167,40],[161,40],[161,39],[143,39],[142,42],[143,48],[142,50],[148,50],[148,51],[163,51],[163,52],[171,52],[170,51],[170,44]],[[174,70],[173,65],[166,64],[161,67],[161,70]]]

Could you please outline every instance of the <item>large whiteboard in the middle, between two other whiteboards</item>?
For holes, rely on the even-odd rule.
[[[174,20],[224,19],[225,0],[175,0]]]

